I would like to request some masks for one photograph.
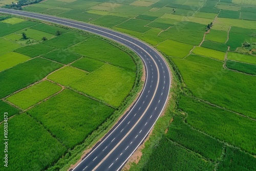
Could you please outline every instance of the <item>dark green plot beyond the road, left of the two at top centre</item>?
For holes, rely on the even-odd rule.
[[[127,19],[129,18],[114,15],[105,15],[93,20],[91,23],[105,27],[114,27],[116,25],[119,25],[120,23],[125,22]]]

